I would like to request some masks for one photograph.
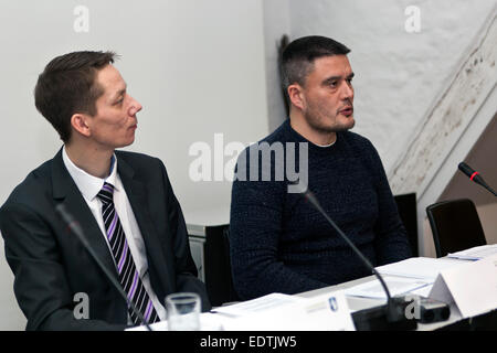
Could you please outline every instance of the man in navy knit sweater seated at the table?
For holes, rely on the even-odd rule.
[[[349,52],[331,39],[307,36],[283,53],[289,120],[241,154],[233,182],[230,252],[241,299],[371,275],[325,217],[292,190],[297,169],[300,182],[373,266],[411,256],[377,150],[348,131],[355,126]]]

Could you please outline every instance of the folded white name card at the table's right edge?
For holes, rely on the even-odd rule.
[[[463,319],[497,309],[497,254],[442,270],[430,298],[455,303]]]

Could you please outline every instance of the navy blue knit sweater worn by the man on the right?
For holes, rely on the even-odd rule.
[[[308,142],[289,120],[261,142],[277,141]],[[347,131],[338,132],[330,147],[307,147],[309,190],[373,266],[410,257],[405,229],[371,142]],[[255,164],[248,150],[245,160],[239,159],[231,201],[230,253],[240,298],[292,295],[371,275],[321,214],[302,195],[288,193],[286,178],[277,181],[275,159],[271,181],[262,180],[261,167],[258,181],[250,181]],[[257,173],[252,170],[252,175]]]

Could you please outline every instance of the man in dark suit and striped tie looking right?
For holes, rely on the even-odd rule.
[[[159,159],[116,151],[135,140],[141,105],[112,65],[114,53],[55,57],[40,75],[35,105],[64,142],[0,210],[6,257],[27,330],[123,330],[139,318],[55,212],[81,224],[89,245],[148,322],[165,297],[197,292],[181,207]]]

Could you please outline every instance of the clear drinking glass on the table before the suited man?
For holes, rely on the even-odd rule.
[[[169,331],[200,330],[200,296],[198,293],[173,293],[166,297]]]

